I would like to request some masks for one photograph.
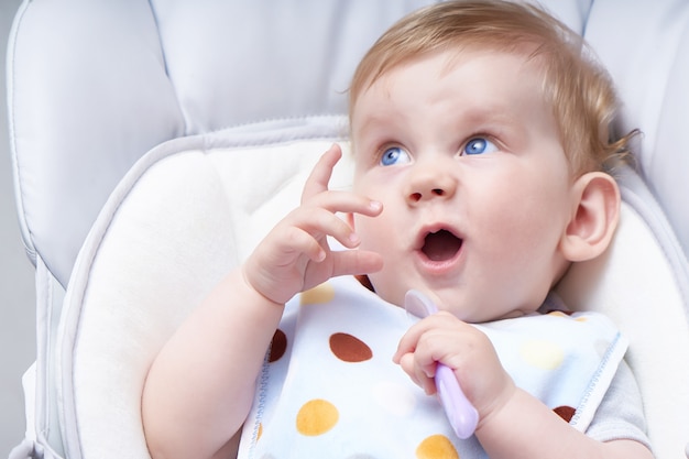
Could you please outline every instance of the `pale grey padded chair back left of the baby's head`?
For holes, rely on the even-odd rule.
[[[118,181],[153,146],[347,112],[359,58],[428,0],[28,1],[8,101],[24,243],[66,285]]]

